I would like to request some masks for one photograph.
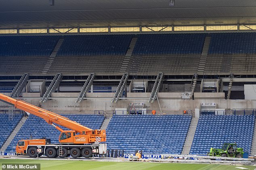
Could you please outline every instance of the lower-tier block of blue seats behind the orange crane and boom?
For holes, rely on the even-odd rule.
[[[76,121],[86,127],[91,129],[99,129],[103,123],[103,115],[63,115],[73,121]],[[61,127],[64,130],[67,128]],[[59,143],[60,132],[46,123],[44,119],[29,115],[29,118],[21,127],[13,141],[7,147],[6,152],[15,152],[15,146],[20,139],[29,139],[30,134],[33,139],[40,139],[46,137],[46,139],[51,139],[51,143]]]

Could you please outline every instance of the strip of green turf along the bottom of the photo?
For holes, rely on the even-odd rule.
[[[234,165],[176,164],[150,162],[98,162],[72,160],[0,159],[0,164],[41,164],[41,170],[239,170]],[[254,170],[256,166],[239,166]]]

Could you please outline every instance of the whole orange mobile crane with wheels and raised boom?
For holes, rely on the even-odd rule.
[[[61,131],[61,134],[59,135],[60,143],[58,144],[51,144],[49,139],[19,140],[16,146],[17,155],[28,155],[32,158],[42,155],[46,155],[49,158],[57,156],[65,158],[69,155],[73,158],[82,156],[89,158],[92,154],[106,153],[106,144],[99,143],[106,141],[105,130],[90,129],[80,125],[76,121],[71,121],[64,116],[36,107],[23,100],[11,98],[4,94],[0,94],[0,100],[15,106],[17,109],[41,117],[48,124]],[[71,130],[64,131],[55,124],[67,127]]]

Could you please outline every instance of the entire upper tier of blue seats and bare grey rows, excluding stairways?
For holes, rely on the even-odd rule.
[[[132,37],[138,39],[127,66],[129,72],[196,73],[206,36],[211,36],[211,42],[205,73],[256,72],[256,33],[184,33],[65,35],[48,73],[119,73]],[[60,37],[0,37],[0,73],[41,74],[46,56],[50,56]]]

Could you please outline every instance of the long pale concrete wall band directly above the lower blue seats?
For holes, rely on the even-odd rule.
[[[38,105],[37,99],[26,99],[25,101]],[[67,112],[91,112],[94,110],[104,110],[111,112],[115,108],[126,108],[131,102],[144,102],[147,110],[157,110],[159,112],[159,106],[157,101],[148,103],[148,99],[122,99],[117,103],[112,103],[111,99],[88,99],[82,100],[80,103],[76,103],[74,98],[59,98],[47,100],[45,103],[41,103],[44,109],[52,111],[67,111]],[[196,99],[196,100],[181,100],[181,99],[159,99],[163,112],[174,113],[182,112],[183,110],[191,109],[194,111],[196,108],[200,108],[200,104],[203,102],[215,102],[218,109],[246,109],[256,108],[256,100],[225,100],[225,99]]]

